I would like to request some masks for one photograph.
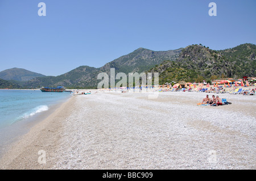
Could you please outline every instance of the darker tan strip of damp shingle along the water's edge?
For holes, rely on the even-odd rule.
[[[39,151],[41,147],[51,148],[51,144],[55,144],[56,137],[53,134],[60,131],[61,120],[68,116],[72,104],[71,97],[60,105],[54,105],[47,115],[39,115],[39,120],[31,123],[32,127],[27,128],[30,130],[26,134],[22,134],[7,146],[7,153],[0,159],[0,169],[42,169],[42,165],[39,164],[38,167],[30,167],[31,161],[34,160],[36,163],[39,157],[38,152],[35,153],[34,150]],[[50,150],[49,152],[52,153]]]

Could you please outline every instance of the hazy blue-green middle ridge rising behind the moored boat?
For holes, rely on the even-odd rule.
[[[89,66],[80,66],[68,73],[52,77],[37,77],[27,81],[22,86],[26,88],[34,88],[39,86],[65,86],[65,87],[97,87],[97,75],[101,72],[110,74],[110,68],[115,68],[115,73],[123,72],[138,72],[146,71],[156,64],[160,64],[164,60],[176,60],[179,57],[181,49],[168,51],[153,51],[149,49],[139,48],[125,56],[121,56],[101,68],[92,68]]]

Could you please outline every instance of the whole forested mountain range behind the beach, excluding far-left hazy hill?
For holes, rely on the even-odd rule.
[[[171,81],[202,82],[225,77],[241,78],[245,75],[255,77],[255,54],[254,44],[241,44],[225,50],[212,50],[201,44],[168,51],[138,48],[101,68],[80,66],[56,77],[37,76],[20,82],[19,85],[28,89],[40,86],[93,88],[101,81],[97,80],[97,75],[101,72],[110,75],[110,68],[115,68],[115,74],[123,72],[126,75],[130,72],[159,72],[160,84]]]

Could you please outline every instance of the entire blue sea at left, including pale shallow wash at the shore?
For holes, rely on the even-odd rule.
[[[0,156],[6,145],[27,133],[69,98],[70,92],[0,90]]]

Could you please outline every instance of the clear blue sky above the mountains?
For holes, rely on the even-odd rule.
[[[46,16],[39,16],[39,2]],[[210,2],[217,16],[209,16]],[[256,44],[255,0],[0,0],[0,71],[60,75],[99,68],[140,47]]]

